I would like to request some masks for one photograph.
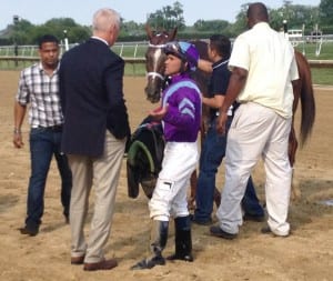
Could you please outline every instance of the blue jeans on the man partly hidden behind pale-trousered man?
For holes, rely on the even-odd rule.
[[[202,222],[211,220],[214,204],[215,175],[225,155],[226,148],[226,134],[222,136],[216,132],[215,122],[215,119],[211,121],[200,154],[194,219]],[[232,118],[230,117],[226,121],[226,133],[231,122]],[[245,194],[242,200],[242,207],[246,214],[254,217],[264,215],[263,208],[255,194],[251,177],[249,178]]]

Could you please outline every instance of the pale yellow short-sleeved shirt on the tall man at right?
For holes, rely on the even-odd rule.
[[[256,102],[284,118],[292,117],[293,88],[299,79],[292,44],[266,22],[256,23],[234,41],[229,68],[248,70],[239,102]]]

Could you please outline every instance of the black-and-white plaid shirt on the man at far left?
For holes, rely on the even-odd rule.
[[[17,101],[21,106],[30,103],[29,123],[32,128],[63,123],[58,70],[59,66],[49,76],[39,62],[21,71]]]

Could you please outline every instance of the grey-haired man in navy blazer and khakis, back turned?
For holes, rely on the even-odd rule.
[[[60,63],[61,147],[73,173],[71,263],[84,263],[84,270],[108,270],[117,267],[114,259],[104,258],[103,247],[111,230],[130,126],[123,98],[124,61],[110,50],[119,34],[119,13],[98,10],[92,29],[93,36],[64,53]],[[85,242],[83,224],[92,185],[94,212]]]

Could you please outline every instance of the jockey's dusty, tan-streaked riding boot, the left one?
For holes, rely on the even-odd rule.
[[[151,257],[138,262],[132,270],[151,269],[155,265],[164,265],[165,259],[162,257],[162,251],[168,241],[169,221],[152,221],[152,230],[150,238]]]

